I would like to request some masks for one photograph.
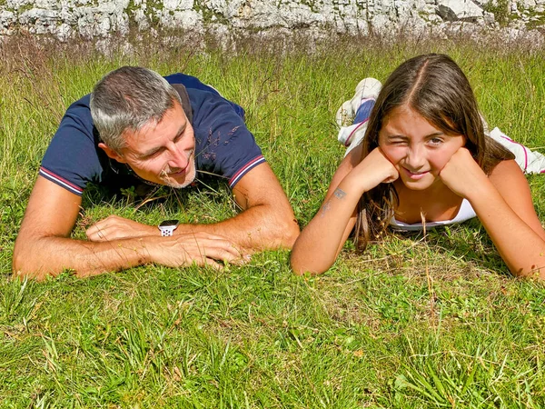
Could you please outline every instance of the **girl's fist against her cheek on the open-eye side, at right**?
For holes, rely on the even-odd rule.
[[[452,192],[465,199],[475,194],[479,186],[488,179],[465,147],[461,147],[451,156],[439,177]]]

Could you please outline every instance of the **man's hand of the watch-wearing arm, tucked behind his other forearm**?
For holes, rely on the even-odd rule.
[[[92,242],[111,242],[144,235],[161,235],[156,226],[141,224],[114,214],[93,224],[85,234]]]

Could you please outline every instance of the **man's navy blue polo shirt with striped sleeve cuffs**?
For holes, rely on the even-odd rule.
[[[244,124],[241,106],[223,98],[215,89],[191,75],[165,77],[187,90],[193,112],[197,177],[218,175],[230,187],[253,167],[262,164],[260,147]],[[98,147],[100,135],[93,125],[90,95],[70,105],[47,148],[39,174],[75,195],[88,183],[123,187],[139,179],[129,166],[110,159]]]

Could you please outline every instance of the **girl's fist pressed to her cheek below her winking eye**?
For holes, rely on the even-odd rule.
[[[360,185],[362,192],[368,192],[380,184],[391,184],[400,177],[400,174],[382,153],[381,148],[377,147],[371,154],[365,156],[347,177],[356,179],[351,183]]]

